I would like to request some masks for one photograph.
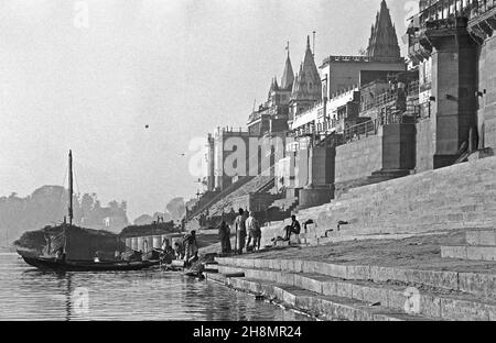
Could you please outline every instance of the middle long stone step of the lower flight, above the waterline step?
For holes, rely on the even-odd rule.
[[[496,320],[496,302],[481,302],[468,295],[453,296],[425,289],[413,290],[407,286],[349,281],[321,274],[296,274],[228,266],[219,266],[219,273],[225,275],[244,273],[245,277],[249,279],[298,287],[328,297],[363,301],[369,307],[378,305],[405,314],[417,314],[438,320]],[[417,295],[416,299],[411,298],[412,291]],[[410,301],[417,301],[411,305],[412,309],[410,309]],[[408,306],[407,310],[406,306]]]

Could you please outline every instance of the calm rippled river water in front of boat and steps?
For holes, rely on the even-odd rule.
[[[180,273],[43,273],[0,253],[0,320],[310,319]]]

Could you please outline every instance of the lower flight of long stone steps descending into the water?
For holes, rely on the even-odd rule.
[[[496,274],[216,258],[207,279],[333,321],[496,320]]]

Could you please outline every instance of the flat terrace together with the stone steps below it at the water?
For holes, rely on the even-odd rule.
[[[441,258],[465,231],[216,258],[207,279],[324,320],[496,320],[496,263]]]

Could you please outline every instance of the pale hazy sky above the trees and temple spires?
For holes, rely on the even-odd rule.
[[[388,1],[400,44],[417,2]],[[76,190],[127,200],[131,219],[191,198],[191,140],[246,126],[285,42],[295,71],[312,31],[317,65],[357,54],[379,4],[0,0],[0,196],[61,185],[72,148]]]

